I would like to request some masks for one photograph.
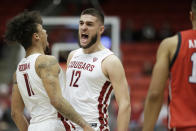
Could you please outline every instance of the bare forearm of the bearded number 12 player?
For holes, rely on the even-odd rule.
[[[128,131],[129,121],[131,117],[131,106],[129,103],[121,104],[118,110],[117,128],[118,131]]]

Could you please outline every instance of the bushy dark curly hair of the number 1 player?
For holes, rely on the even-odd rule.
[[[20,43],[25,50],[32,45],[32,35],[38,32],[37,24],[42,25],[38,11],[25,11],[12,18],[6,25],[6,42]]]

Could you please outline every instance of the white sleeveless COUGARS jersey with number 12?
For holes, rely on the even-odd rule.
[[[108,49],[85,54],[80,48],[66,72],[66,99],[96,131],[109,130],[107,109],[113,88],[102,72],[101,63],[111,54]],[[76,130],[82,129],[76,126]]]

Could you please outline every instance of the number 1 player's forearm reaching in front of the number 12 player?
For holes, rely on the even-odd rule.
[[[84,128],[87,126],[87,122],[74,110],[74,108],[66,100],[62,99],[61,102],[56,104],[56,109],[63,115],[65,118],[73,121],[78,124],[80,127]]]

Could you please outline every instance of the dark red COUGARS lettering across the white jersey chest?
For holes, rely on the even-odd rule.
[[[88,70],[88,71],[93,71],[95,65],[85,63],[82,61],[71,61],[69,63],[68,68],[77,68],[77,69],[83,69],[83,70]]]

